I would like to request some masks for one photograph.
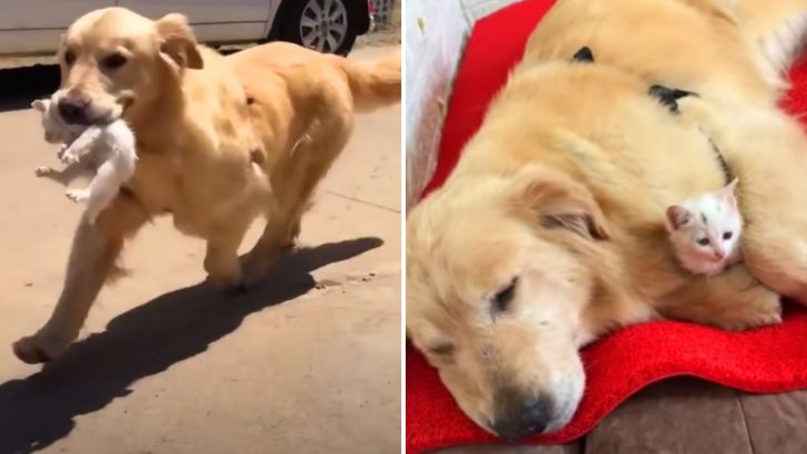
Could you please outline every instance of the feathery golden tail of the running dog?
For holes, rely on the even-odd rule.
[[[357,112],[369,112],[400,102],[400,48],[390,55],[370,62],[341,59]]]

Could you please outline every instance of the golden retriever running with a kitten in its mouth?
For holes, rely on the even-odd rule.
[[[243,290],[299,233],[354,112],[400,100],[399,52],[362,64],[273,43],[225,58],[197,45],[181,14],[90,12],[69,28],[59,59],[65,120],[123,116],[140,161],[95,224],[79,226],[50,320],[13,344],[29,363],[58,357],[76,338],[124,239],[153,216],[171,214],[177,229],[204,238],[210,280]],[[258,215],[266,229],[242,261],[237,248]]]

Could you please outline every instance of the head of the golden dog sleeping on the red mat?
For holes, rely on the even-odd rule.
[[[479,425],[514,441],[569,422],[609,236],[591,193],[546,168],[457,180],[412,210],[407,334]]]

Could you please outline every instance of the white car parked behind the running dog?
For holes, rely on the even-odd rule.
[[[0,0],[0,55],[54,53],[81,14],[125,7],[150,18],[188,17],[210,44],[283,40],[347,54],[370,27],[368,0]]]

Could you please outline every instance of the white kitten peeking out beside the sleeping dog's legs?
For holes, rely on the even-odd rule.
[[[714,276],[740,260],[743,218],[735,190],[727,186],[667,208],[667,230],[681,265],[696,275]]]

